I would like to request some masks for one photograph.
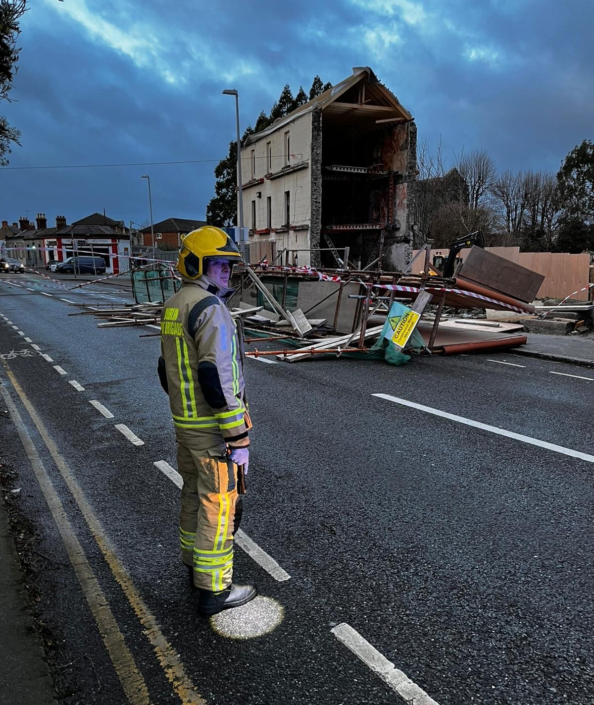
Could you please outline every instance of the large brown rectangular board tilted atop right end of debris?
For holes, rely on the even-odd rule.
[[[471,247],[459,276],[470,279],[519,301],[532,302],[545,277],[536,271],[510,262],[509,259],[487,252],[482,247]]]

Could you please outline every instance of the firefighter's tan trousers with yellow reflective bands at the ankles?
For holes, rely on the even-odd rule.
[[[178,443],[178,470],[184,481],[180,544],[194,585],[218,592],[233,577],[233,535],[239,528],[241,498],[237,465],[221,458],[221,447],[190,450]]]

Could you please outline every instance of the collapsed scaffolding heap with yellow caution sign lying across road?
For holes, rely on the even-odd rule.
[[[476,238],[469,236],[459,244],[474,242]],[[429,261],[431,243],[421,248],[405,272],[347,269],[345,250],[343,259],[335,252],[340,269],[266,261],[235,268],[230,310],[233,317],[244,320],[246,344],[259,345],[248,356],[296,362],[325,355],[378,357],[381,353],[388,362],[400,364],[409,360],[404,350],[452,355],[526,343],[526,336],[517,333],[521,324],[458,321],[444,313],[448,308],[454,312],[488,308],[534,314],[530,301],[543,281],[535,272],[476,244],[466,262],[451,274]],[[134,305],[96,305],[80,313],[101,319],[101,327],[159,328],[162,303],[181,284],[173,266],[136,271],[132,283]],[[261,349],[260,343],[275,349]]]

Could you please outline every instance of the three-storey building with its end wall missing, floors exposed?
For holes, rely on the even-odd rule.
[[[252,262],[336,267],[347,247],[354,268],[405,269],[416,125],[371,68],[249,135],[241,154]]]

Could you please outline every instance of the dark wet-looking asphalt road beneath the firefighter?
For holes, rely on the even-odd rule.
[[[3,462],[48,558],[37,587],[63,702],[388,704],[404,702],[403,674],[416,705],[594,701],[590,370],[502,353],[247,360],[242,529],[290,579],[237,549],[261,598],[204,620],[178,555],[178,489],[154,465],[175,468],[159,338],[68,316],[64,299],[128,296],[105,289],[0,278],[3,388],[95,581],[77,578],[51,488],[1,414]],[[118,673],[121,644],[106,649],[103,608],[89,608],[98,589],[132,658]],[[344,635],[371,644],[366,661]]]

